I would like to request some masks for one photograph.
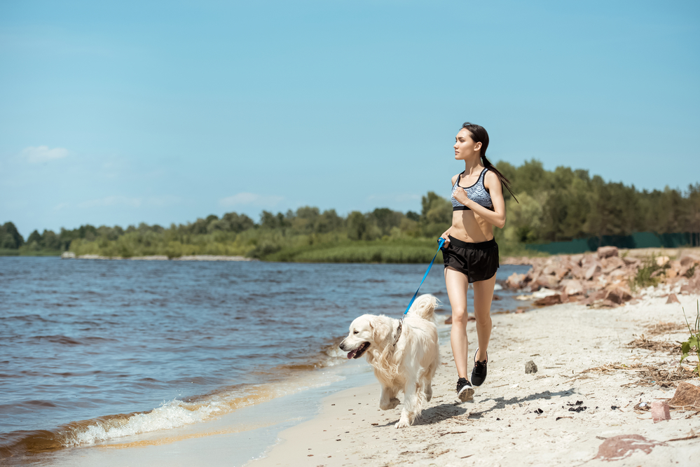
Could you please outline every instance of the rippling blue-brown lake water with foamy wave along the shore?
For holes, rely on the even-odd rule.
[[[0,458],[301,391],[309,372],[346,361],[337,344],[352,319],[399,317],[425,267],[0,258]],[[498,279],[527,269],[502,266]],[[440,265],[421,293],[448,315]],[[494,312],[516,308],[496,293]]]

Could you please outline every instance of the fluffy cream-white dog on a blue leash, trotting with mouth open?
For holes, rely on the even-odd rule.
[[[436,306],[433,295],[420,295],[406,314],[395,345],[399,320],[373,314],[363,314],[352,321],[350,334],[340,344],[348,358],[365,355],[374,367],[374,375],[382,385],[380,409],[399,405],[396,396],[404,391],[404,410],[397,428],[410,426],[432,398],[431,382],[440,358],[433,321]]]

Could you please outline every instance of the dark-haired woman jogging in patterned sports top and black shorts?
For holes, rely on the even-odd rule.
[[[445,239],[445,284],[452,305],[452,354],[457,366],[457,395],[464,402],[474,398],[474,386],[486,379],[488,340],[491,335],[491,300],[498,268],[498,245],[493,226],[505,225],[502,184],[509,181],[486,159],[488,133],[472,123],[462,125],[455,138],[455,159],[465,161],[465,171],[452,177],[452,227]],[[512,194],[512,191],[511,191]],[[474,316],[479,347],[474,353],[472,381],[467,377],[467,288],[474,288]]]

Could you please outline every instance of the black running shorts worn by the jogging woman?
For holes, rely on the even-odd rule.
[[[451,267],[467,276],[469,284],[490,279],[498,269],[498,245],[488,242],[467,243],[449,235],[450,243],[442,249],[445,267]]]

